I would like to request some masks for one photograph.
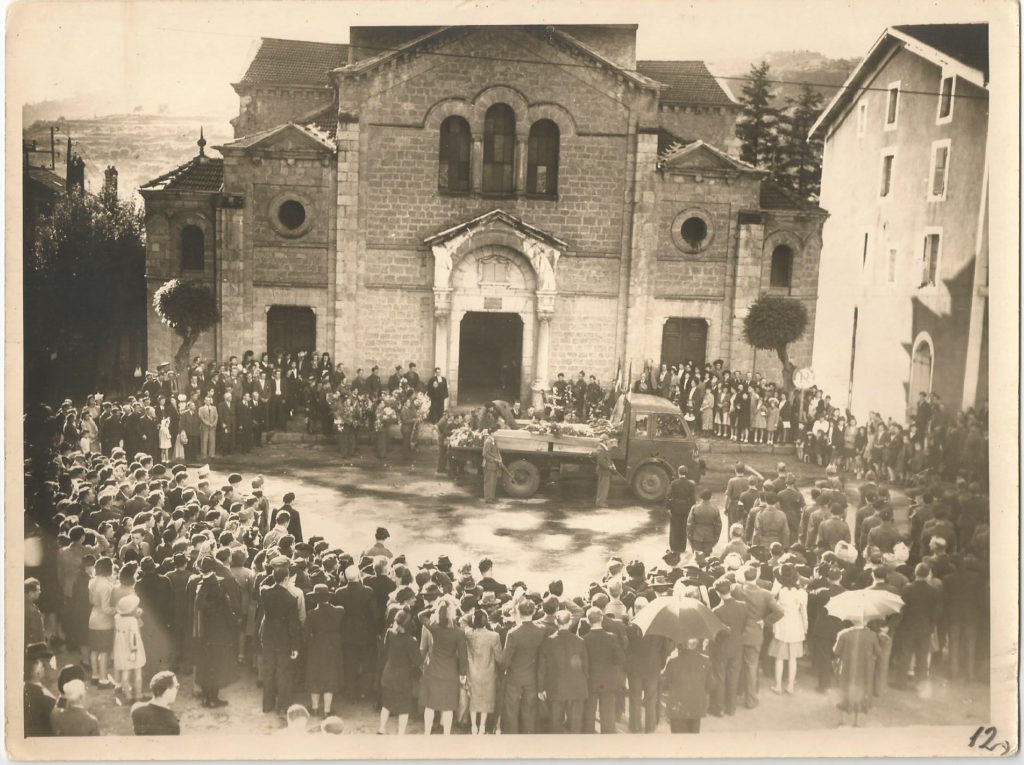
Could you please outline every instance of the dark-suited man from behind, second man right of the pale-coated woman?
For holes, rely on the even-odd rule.
[[[551,733],[583,732],[583,706],[589,695],[587,646],[571,632],[572,614],[555,613],[557,632],[541,644],[537,664],[540,697],[551,711]]]

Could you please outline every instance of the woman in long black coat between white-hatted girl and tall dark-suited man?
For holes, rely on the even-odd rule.
[[[204,558],[203,579],[196,591],[196,684],[204,707],[224,707],[220,689],[234,680],[237,615],[215,572],[213,558]]]

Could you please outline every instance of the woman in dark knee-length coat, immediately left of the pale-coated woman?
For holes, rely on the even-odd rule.
[[[451,596],[437,601],[436,609],[420,613],[424,638],[429,636],[420,706],[423,707],[423,732],[430,734],[434,712],[441,713],[444,735],[452,733],[452,722],[459,706],[459,687],[466,683],[468,661],[466,634],[456,624],[458,604]]]

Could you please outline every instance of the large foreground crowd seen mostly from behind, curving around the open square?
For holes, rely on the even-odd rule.
[[[143,395],[152,402],[154,390]],[[381,733],[391,717],[406,732],[420,712],[428,733],[615,732],[627,713],[633,732],[666,718],[696,731],[737,699],[757,707],[762,674],[773,692],[793,692],[805,650],[819,690],[838,679],[845,713],[905,686],[911,668],[916,683],[939,666],[984,677],[988,501],[966,465],[953,483],[941,471],[915,481],[909,535],[873,466],[851,499],[834,461],[807,503],[784,465],[770,480],[737,465],[724,546],[711,492],[697,501],[682,475],[667,500],[669,551],[612,558],[570,593],[558,581],[503,582],[486,559],[415,563],[392,553],[384,527],[344,547],[306,537],[295,495],[271,502],[261,476],[211,486],[207,467],[193,477],[176,457],[130,451],[137,441],[111,418],[98,443],[76,438],[69,423],[89,410],[66,401],[27,428],[49,434],[26,463],[30,735],[102,732],[90,692],[115,694],[136,732],[176,733],[180,677],[218,708],[241,672],[258,677],[263,712],[289,725],[311,714],[341,729],[344,696],[379,709]],[[844,624],[826,605],[852,589],[897,593],[902,611]],[[679,642],[643,633],[634,619],[664,598],[699,601],[727,629]],[[55,653],[70,663],[54,684]]]

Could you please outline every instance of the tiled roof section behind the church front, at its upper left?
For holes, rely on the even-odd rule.
[[[243,83],[327,87],[332,70],[348,63],[346,43],[317,43],[264,37]]]

